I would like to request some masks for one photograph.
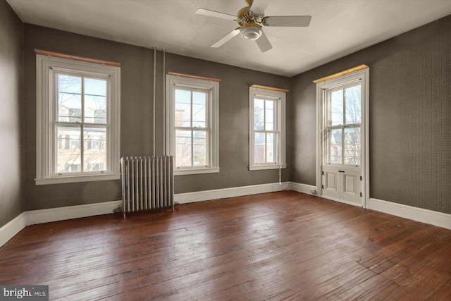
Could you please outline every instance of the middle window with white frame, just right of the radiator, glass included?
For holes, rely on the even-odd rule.
[[[217,81],[166,75],[166,137],[175,175],[217,173]]]

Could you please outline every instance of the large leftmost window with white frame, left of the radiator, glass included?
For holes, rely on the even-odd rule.
[[[121,68],[37,55],[36,184],[120,178]]]

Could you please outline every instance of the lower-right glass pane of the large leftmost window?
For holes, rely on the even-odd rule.
[[[83,131],[85,144],[83,171],[106,170],[106,128],[88,128]]]

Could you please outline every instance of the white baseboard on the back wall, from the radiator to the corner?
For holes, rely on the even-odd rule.
[[[178,193],[174,201],[179,204],[210,201],[212,199],[225,199],[226,197],[242,197],[243,195],[257,195],[258,193],[275,192],[288,189],[290,182],[250,185],[198,192]]]

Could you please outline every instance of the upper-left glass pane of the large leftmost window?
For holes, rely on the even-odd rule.
[[[64,122],[82,121],[82,78],[58,74],[56,76],[58,102],[57,120]]]

